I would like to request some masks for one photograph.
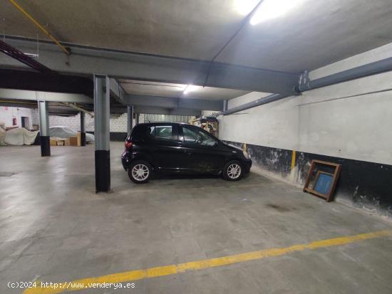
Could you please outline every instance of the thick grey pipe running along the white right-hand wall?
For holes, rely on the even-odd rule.
[[[314,90],[317,88],[323,88],[329,85],[335,85],[338,83],[344,83],[349,80],[356,80],[357,78],[364,78],[369,75],[376,75],[378,73],[385,73],[387,71],[392,70],[392,58],[386,58],[381,61],[375,61],[373,63],[368,63],[365,65],[358,66],[356,68],[351,68],[349,70],[341,71],[340,73],[334,73],[332,75],[327,75],[323,78],[318,78],[316,80],[304,80],[304,73],[301,75],[300,80],[301,82],[295,88],[296,93],[301,95],[302,92],[306,92],[309,90]],[[218,112],[215,116],[218,115],[230,115],[234,112],[239,112],[242,110],[247,110],[252,107],[257,107],[259,105],[264,105],[267,103],[272,103],[277,100],[282,100],[284,98],[289,97],[290,95],[283,95],[283,94],[272,94],[264,98],[260,98],[254,100],[249,103],[245,103],[243,105],[239,105],[237,107],[230,108],[229,110]]]

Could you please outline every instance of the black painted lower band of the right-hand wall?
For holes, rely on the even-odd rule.
[[[229,142],[242,148],[243,143]],[[292,150],[247,144],[253,164],[285,178],[291,173]],[[392,165],[361,160],[296,152],[296,183],[304,184],[312,159],[341,164],[335,197],[351,201],[365,209],[376,209],[392,216]]]

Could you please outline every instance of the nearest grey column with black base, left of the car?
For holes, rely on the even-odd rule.
[[[94,75],[94,135],[96,137],[96,192],[110,191],[110,79]]]

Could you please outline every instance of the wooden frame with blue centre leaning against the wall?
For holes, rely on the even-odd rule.
[[[318,170],[314,179],[314,187],[309,188],[311,177],[313,175],[316,164],[333,167],[334,173]],[[341,164],[336,164],[334,162],[324,162],[321,160],[312,160],[308,177],[306,177],[304,192],[308,192],[315,196],[326,199],[327,202],[330,202],[332,200],[332,194],[334,194],[336,188],[336,182],[338,181],[340,170]]]

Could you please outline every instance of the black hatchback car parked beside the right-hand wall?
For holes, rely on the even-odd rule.
[[[249,172],[246,152],[227,145],[200,127],[172,122],[138,124],[125,140],[123,167],[135,183],[145,183],[153,172],[222,174],[237,181]]]

